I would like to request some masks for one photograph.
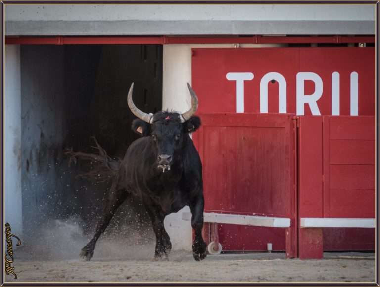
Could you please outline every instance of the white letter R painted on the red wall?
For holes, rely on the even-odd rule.
[[[305,95],[305,81],[311,80],[315,83],[315,91],[311,95]],[[313,72],[298,72],[296,84],[296,106],[297,115],[305,114],[305,104],[308,104],[312,115],[321,115],[317,101],[321,98],[323,92],[323,82],[318,74]]]

